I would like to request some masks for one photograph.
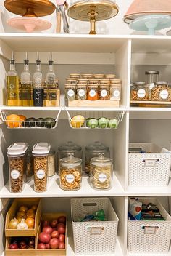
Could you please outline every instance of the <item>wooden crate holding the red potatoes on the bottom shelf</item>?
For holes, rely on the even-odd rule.
[[[66,217],[66,233],[65,233],[65,249],[37,249],[38,248],[38,235],[41,233],[42,220],[54,220],[60,216]],[[41,217],[41,223],[38,227],[38,233],[36,237],[36,256],[66,256],[67,254],[67,215],[64,213],[43,213]]]

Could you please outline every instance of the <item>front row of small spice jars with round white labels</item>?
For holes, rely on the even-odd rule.
[[[67,100],[120,100],[121,80],[115,79],[114,84],[66,84]]]

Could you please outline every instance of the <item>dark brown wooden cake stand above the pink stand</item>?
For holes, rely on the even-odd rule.
[[[49,0],[5,0],[5,8],[23,17],[42,17],[51,15],[56,9]]]

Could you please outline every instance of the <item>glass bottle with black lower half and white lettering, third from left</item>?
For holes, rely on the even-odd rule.
[[[41,60],[37,53],[36,71],[33,74],[33,105],[43,107],[43,74],[41,73]]]

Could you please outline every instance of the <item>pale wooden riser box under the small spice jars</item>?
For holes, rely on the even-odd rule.
[[[68,107],[117,108],[119,100],[68,100]]]

